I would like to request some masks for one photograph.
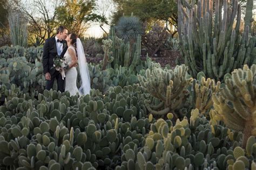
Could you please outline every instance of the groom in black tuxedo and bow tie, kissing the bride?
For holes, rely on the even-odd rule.
[[[55,37],[45,40],[43,50],[43,70],[46,79],[46,90],[50,90],[53,87],[55,79],[57,80],[58,90],[64,92],[64,80],[62,75],[53,67],[53,59],[59,55],[63,58],[68,45],[66,44],[66,37],[68,30],[65,26],[59,26]]]

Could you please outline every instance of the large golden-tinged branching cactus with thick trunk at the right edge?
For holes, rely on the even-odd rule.
[[[225,87],[213,94],[215,118],[223,119],[228,128],[242,131],[242,146],[250,136],[256,136],[256,65],[251,69],[235,69],[226,75]]]

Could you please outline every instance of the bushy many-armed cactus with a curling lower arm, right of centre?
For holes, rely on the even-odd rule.
[[[187,77],[185,65],[176,66],[174,70],[153,68],[146,70],[145,77],[138,75],[140,85],[149,93],[160,99],[157,106],[151,107],[151,101],[145,100],[146,108],[154,115],[166,115],[184,107],[187,101],[187,87],[191,84],[192,78]],[[159,110],[164,107],[163,110]]]

